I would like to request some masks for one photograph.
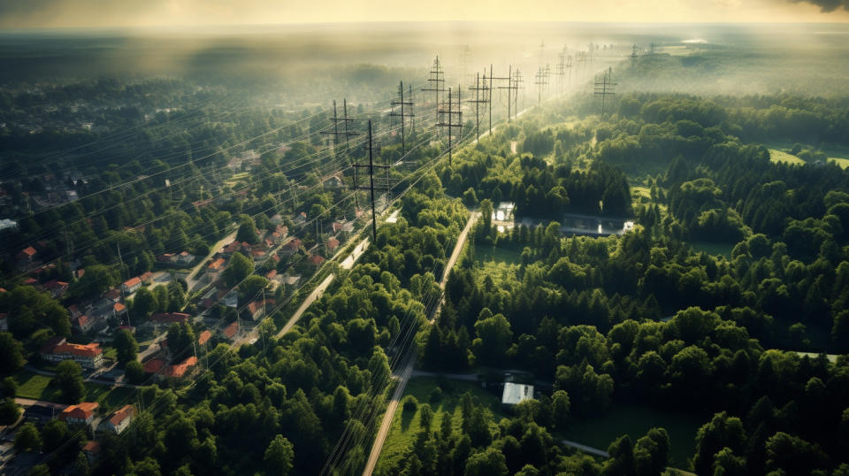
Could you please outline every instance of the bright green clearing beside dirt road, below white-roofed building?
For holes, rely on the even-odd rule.
[[[430,395],[433,389],[437,387],[442,389],[442,398],[439,402],[432,402]],[[410,379],[407,383],[404,396],[415,396],[418,400],[419,409],[423,403],[431,405],[431,409],[433,410],[432,430],[438,430],[440,428],[443,415],[451,414],[451,423],[455,431],[460,431],[462,423],[460,397],[467,391],[471,392],[471,395],[478,400],[478,403],[485,404],[493,412],[494,421],[498,421],[505,416],[501,412],[501,400],[471,382],[416,377]],[[389,434],[383,443],[383,449],[380,452],[375,474],[389,474],[394,465],[402,459],[404,453],[413,444],[416,434],[420,430],[419,412],[420,410],[403,411],[402,404],[398,405],[398,410],[395,411],[395,416],[392,420],[392,426],[389,428]]]

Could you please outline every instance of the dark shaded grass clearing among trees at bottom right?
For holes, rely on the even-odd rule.
[[[692,457],[696,449],[696,431],[705,423],[707,419],[702,421],[677,411],[616,404],[604,416],[576,421],[560,436],[606,451],[609,444],[623,434],[631,436],[631,441],[637,441],[648,430],[660,426],[669,432],[669,440],[672,441],[669,465],[686,469],[690,467],[687,458]]]

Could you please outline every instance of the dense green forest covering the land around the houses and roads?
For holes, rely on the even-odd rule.
[[[198,372],[153,380],[139,368],[133,335],[114,334],[114,359],[134,385],[122,402],[139,415],[124,434],[97,434],[101,452],[92,461],[80,451],[95,436],[90,429],[22,425],[14,444],[41,452],[34,473],[361,472],[397,384],[391,374],[412,346],[417,369],[443,380],[426,402],[404,398],[399,418],[416,433],[389,450],[379,473],[647,475],[674,466],[849,474],[849,173],[834,160],[845,157],[830,155],[849,145],[845,98],[631,92],[600,116],[595,99],[577,93],[461,146],[450,163],[424,125],[403,154],[388,118],[376,120],[383,143],[374,158],[415,168],[387,173],[395,185],[386,184],[394,193],[386,209],[397,214],[380,219],[348,271],[299,261],[330,238],[313,220],[341,226],[359,211],[344,184],[325,186],[340,170],[340,180],[352,179],[349,162],[365,157],[361,139],[341,154],[317,134],[329,111],[257,104],[222,114],[208,104],[238,103],[239,94],[183,81],[97,81],[4,93],[0,119],[44,119],[43,101],[79,94],[89,97],[91,131],[4,128],[0,136],[12,151],[4,173],[19,182],[7,198],[19,227],[0,232],[4,424],[19,417],[12,398],[31,372],[24,365],[50,338],[85,334],[72,328],[73,303],[167,269],[164,253],[212,257],[229,234],[256,244],[287,226],[303,242],[277,263],[235,251],[218,288],[193,293],[187,280],[172,280],[136,292],[127,307],[141,323],[165,312],[203,317],[164,333],[172,364],[196,353]],[[74,108],[51,111],[50,120],[77,120]],[[97,132],[107,124],[124,131],[120,140]],[[49,153],[57,148],[79,148],[79,157]],[[776,160],[778,149],[799,164]],[[257,157],[242,155],[249,150]],[[233,158],[239,164],[231,168]],[[68,177],[44,178],[58,171]],[[59,188],[79,200],[34,200]],[[515,204],[515,220],[493,219],[502,203]],[[310,221],[296,222],[301,213]],[[636,225],[576,235],[564,227],[575,217],[599,229],[607,220]],[[62,296],[27,282],[18,253],[32,243],[42,262],[55,263],[32,279],[66,282]],[[306,292],[274,291],[272,271],[303,273],[313,284],[335,276],[285,334]],[[233,290],[238,311],[220,305]],[[204,312],[207,291],[221,296]],[[256,322],[256,340],[198,343],[213,328],[207,318],[247,321],[246,306],[266,292],[283,304]],[[80,365],[43,368],[57,401],[90,395]],[[483,395],[500,393],[505,372],[521,373],[538,394],[493,408]],[[449,373],[497,385],[454,391]],[[103,412],[114,403],[103,400]],[[439,410],[447,403],[459,412]],[[609,457],[564,442],[625,403],[698,419],[694,441],[658,424],[608,441]],[[685,461],[673,458],[689,445]]]

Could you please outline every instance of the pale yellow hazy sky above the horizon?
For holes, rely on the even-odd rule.
[[[0,0],[0,28],[398,20],[847,22],[849,0]]]

